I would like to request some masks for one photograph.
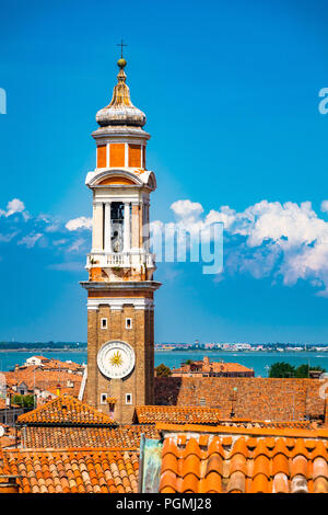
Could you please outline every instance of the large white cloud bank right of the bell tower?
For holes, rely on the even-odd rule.
[[[318,295],[328,297],[328,222],[309,202],[261,201],[239,213],[221,206],[203,217],[198,203],[177,201],[171,207],[176,227],[190,232],[224,224],[226,272],[273,281],[280,276],[284,285],[304,279],[320,288]],[[321,210],[326,209],[328,201],[321,204]]]

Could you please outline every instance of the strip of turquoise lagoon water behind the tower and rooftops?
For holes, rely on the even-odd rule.
[[[54,352],[0,352],[0,371],[11,370],[15,364],[23,365],[31,356],[46,356],[54,359],[74,363],[86,363],[86,351],[54,351]],[[257,377],[268,377],[270,365],[276,362],[286,362],[293,366],[309,364],[320,366],[328,371],[328,353],[320,352],[220,352],[220,351],[157,351],[155,352],[155,366],[163,363],[169,368],[180,366],[184,359],[202,359],[209,356],[211,362],[224,360],[225,363],[239,363],[248,368],[254,368]]]

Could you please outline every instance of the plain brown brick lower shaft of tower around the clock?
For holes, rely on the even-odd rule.
[[[101,329],[101,319],[107,318],[107,329]],[[126,318],[132,320],[132,329],[126,328]],[[134,350],[136,366],[124,379],[108,380],[97,367],[97,353],[108,341],[127,342]],[[87,380],[86,401],[98,411],[109,413],[107,403],[101,403],[101,394],[117,399],[114,419],[130,423],[134,405],[153,404],[153,311],[125,306],[122,310],[110,310],[99,306],[87,311]],[[132,394],[132,403],[126,403],[126,394]]]

